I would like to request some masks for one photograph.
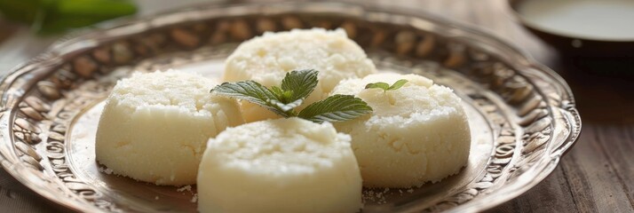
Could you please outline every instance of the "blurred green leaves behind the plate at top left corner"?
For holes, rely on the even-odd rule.
[[[7,20],[25,23],[38,33],[90,26],[137,12],[126,0],[0,0]]]

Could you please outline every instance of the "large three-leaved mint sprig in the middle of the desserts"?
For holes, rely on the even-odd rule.
[[[242,99],[263,106],[283,117],[297,116],[312,122],[343,122],[372,112],[365,101],[352,95],[334,95],[317,101],[298,114],[295,108],[314,91],[319,82],[318,71],[295,70],[284,76],[281,86],[267,88],[254,81],[222,83],[211,92],[218,95]]]

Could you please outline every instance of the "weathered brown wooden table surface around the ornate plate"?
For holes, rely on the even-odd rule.
[[[634,212],[634,67],[626,67],[620,75],[606,75],[610,70],[582,70],[567,63],[520,27],[503,0],[397,2],[488,29],[557,71],[575,94],[582,115],[582,134],[576,145],[542,183],[490,212]],[[142,4],[142,13],[158,10],[148,7],[153,6]],[[0,74],[35,56],[54,38],[29,36],[26,29],[0,20]],[[4,170],[0,170],[0,186],[0,212],[67,211],[29,191]]]

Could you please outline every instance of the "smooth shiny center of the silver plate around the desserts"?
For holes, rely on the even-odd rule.
[[[144,66],[152,64],[152,66]],[[224,65],[221,59],[207,59],[194,63],[170,66],[186,72],[199,73],[207,77],[219,77]],[[156,63],[139,63],[131,70],[153,71],[166,70],[168,66],[157,66]],[[405,72],[394,67],[377,66],[381,72]],[[452,85],[448,85],[452,86]],[[436,184],[426,184],[412,189],[364,189],[364,212],[382,212],[388,209],[410,209],[408,204],[416,203],[416,209],[429,207],[448,196],[459,193],[479,177],[486,169],[493,146],[494,133],[477,105],[461,94],[456,86],[456,93],[464,99],[464,109],[469,117],[472,130],[472,146],[468,165],[457,175],[448,177]],[[102,94],[104,97],[107,93]],[[105,102],[95,100],[75,116],[71,123],[67,138],[67,157],[75,176],[91,185],[108,200],[123,204],[118,207],[134,211],[177,211],[192,212],[196,210],[194,201],[195,185],[191,191],[176,186],[158,186],[135,181],[128,177],[108,174],[109,170],[95,160],[95,135],[99,124],[99,116]],[[416,201],[416,202],[412,202]]]

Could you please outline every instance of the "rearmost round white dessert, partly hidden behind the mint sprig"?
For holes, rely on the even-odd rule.
[[[280,86],[287,72],[298,69],[319,71],[319,84],[303,106],[328,97],[341,80],[376,73],[376,67],[361,47],[343,29],[293,29],[265,33],[240,44],[226,59],[224,80],[253,80],[265,86]],[[245,121],[278,118],[277,114],[242,102]]]

